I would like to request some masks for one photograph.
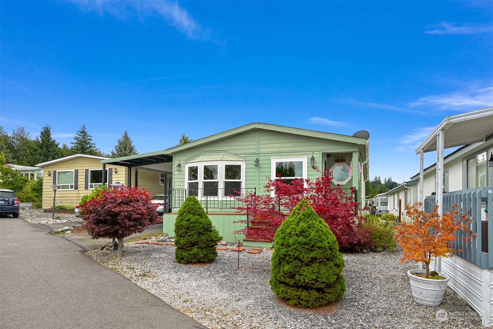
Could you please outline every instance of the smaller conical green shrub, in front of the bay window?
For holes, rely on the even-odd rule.
[[[199,201],[193,195],[187,197],[175,221],[176,261],[209,263],[217,257],[217,241],[220,240],[222,237]]]

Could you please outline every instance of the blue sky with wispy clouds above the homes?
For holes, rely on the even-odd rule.
[[[0,121],[140,153],[252,122],[370,132],[408,180],[445,116],[493,104],[492,1],[1,1]],[[426,165],[435,154],[426,156]]]

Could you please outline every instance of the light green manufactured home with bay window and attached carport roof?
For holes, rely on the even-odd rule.
[[[321,172],[312,164],[333,171],[333,183],[348,192],[354,187],[358,202],[364,204],[368,148],[368,140],[361,137],[250,123],[163,151],[102,163],[125,165],[135,174],[140,167],[161,172],[169,211],[163,215],[164,233],[174,235],[179,206],[186,196],[195,195],[224,239],[234,241],[245,238],[233,232],[244,227],[234,222],[246,215],[235,214],[231,207],[240,205],[231,195],[270,193],[263,186],[278,174],[284,181],[315,179]],[[262,243],[252,241],[249,245]]]

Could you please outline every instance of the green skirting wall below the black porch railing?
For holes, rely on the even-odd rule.
[[[163,215],[163,233],[167,233],[170,237],[175,236],[176,216],[176,213],[165,213]],[[237,234],[235,236],[233,232],[246,227],[246,224],[234,223],[235,221],[246,219],[246,215],[209,214],[209,218],[212,221],[212,225],[214,225],[214,227],[219,231],[219,234],[222,235],[223,241],[235,242],[238,241],[238,239],[243,240],[245,238],[245,236],[241,234]]]

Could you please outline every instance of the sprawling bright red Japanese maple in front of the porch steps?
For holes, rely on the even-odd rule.
[[[313,168],[319,171],[317,167]],[[327,174],[324,170],[321,177],[315,180],[294,179],[290,184],[284,183],[282,179],[269,180],[264,186],[267,194],[250,193],[235,197],[243,203],[243,206],[236,208],[237,212],[248,214],[261,224],[235,233],[248,233],[258,240],[272,240],[282,221],[306,197],[317,215],[329,225],[340,248],[357,244],[360,239],[357,221],[363,217],[356,212],[360,204],[354,201],[354,188],[351,188],[351,195],[346,195],[339,185],[331,184],[331,179],[332,172]],[[247,220],[239,222],[246,223]]]

